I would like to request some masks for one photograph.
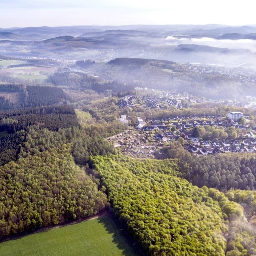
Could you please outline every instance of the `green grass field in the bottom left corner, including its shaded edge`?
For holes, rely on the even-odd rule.
[[[108,215],[0,243],[1,256],[139,256]]]

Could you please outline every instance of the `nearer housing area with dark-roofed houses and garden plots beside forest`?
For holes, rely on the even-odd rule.
[[[233,112],[232,114],[243,116],[242,112]],[[227,117],[229,115],[230,113],[227,114]],[[237,120],[233,116],[232,119]],[[123,122],[123,120],[127,121],[125,115],[122,115],[119,122]],[[161,149],[168,146],[172,140],[177,141],[179,138],[182,138],[184,149],[197,155],[256,152],[256,136],[254,135],[256,127],[247,132],[248,126],[239,125],[234,120],[230,123],[228,119],[223,120],[219,115],[200,117],[189,115],[145,122],[137,117],[137,124],[133,129],[112,136],[108,140],[115,147],[120,148],[122,153],[141,158],[161,158]],[[205,139],[205,137],[194,136],[194,130],[200,130],[202,127],[222,132],[231,129],[242,131],[242,133],[237,134],[235,138],[226,136],[226,138],[209,137]]]

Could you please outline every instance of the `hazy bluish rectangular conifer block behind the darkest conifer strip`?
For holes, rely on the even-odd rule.
[[[27,107],[49,106],[65,102],[66,95],[61,88],[52,86],[27,86],[25,104]]]

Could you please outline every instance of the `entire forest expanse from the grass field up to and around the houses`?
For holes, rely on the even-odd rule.
[[[175,111],[117,103],[110,97],[0,112],[0,240],[108,210],[147,255],[256,255],[256,155],[194,157],[171,141],[164,160],[124,156],[105,139],[129,129],[117,117],[136,122]],[[227,108],[213,104],[209,112]],[[175,114],[203,110],[199,104]]]

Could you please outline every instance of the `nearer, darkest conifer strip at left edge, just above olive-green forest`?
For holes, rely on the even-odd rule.
[[[39,125],[49,130],[77,126],[76,113],[72,106],[47,106],[0,112],[0,131],[15,133],[27,126]]]

